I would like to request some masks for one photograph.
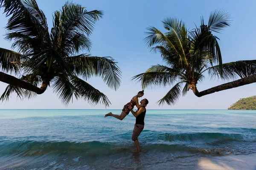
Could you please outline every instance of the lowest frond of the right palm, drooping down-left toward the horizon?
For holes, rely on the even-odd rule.
[[[170,91],[159,101],[157,101],[158,105],[163,105],[166,103],[167,105],[174,105],[180,97],[181,94],[181,84],[182,82],[178,82],[174,85]]]

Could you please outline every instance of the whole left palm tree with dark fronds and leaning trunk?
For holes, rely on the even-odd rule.
[[[110,104],[107,96],[86,80],[99,76],[116,90],[121,82],[116,62],[111,57],[79,53],[90,52],[88,37],[102,11],[66,3],[54,12],[53,27],[48,31],[47,19],[35,0],[0,0],[0,8],[10,17],[6,40],[13,40],[12,48],[17,49],[0,48],[0,81],[9,84],[0,99],[8,100],[12,93],[21,99],[32,98],[51,85],[65,105],[73,96],[92,104]]]

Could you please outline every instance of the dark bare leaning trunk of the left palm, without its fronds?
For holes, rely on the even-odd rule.
[[[14,86],[19,87],[19,88],[24,88],[26,90],[33,91],[36,94],[43,94],[44,91],[46,91],[46,89],[47,89],[47,85],[49,84],[49,82],[43,81],[41,87],[38,88],[35,85],[32,85],[28,82],[25,82],[25,81],[21,80],[21,79],[17,79],[16,77],[13,77],[9,74],[5,74],[1,71],[0,71],[0,81],[5,82],[5,83],[10,84],[10,85],[14,85]]]

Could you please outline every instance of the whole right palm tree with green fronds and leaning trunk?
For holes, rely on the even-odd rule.
[[[141,82],[143,88],[173,85],[158,101],[159,105],[175,104],[181,93],[184,96],[189,89],[201,97],[256,82],[256,60],[222,63],[219,39],[212,32],[221,32],[230,26],[230,14],[226,11],[213,11],[208,25],[201,17],[201,26],[192,31],[188,31],[185,24],[176,18],[166,18],[162,23],[168,32],[162,33],[155,27],[148,27],[146,34],[149,36],[145,42],[151,51],[160,52],[166,65],[153,65],[145,73],[132,78]],[[205,72],[212,78],[241,79],[199,92],[196,85],[204,79]]]

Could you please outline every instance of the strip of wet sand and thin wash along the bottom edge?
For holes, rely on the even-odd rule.
[[[6,164],[0,169],[5,170],[51,170],[69,169],[67,167],[75,167],[71,169],[82,170],[256,170],[256,153],[248,155],[229,155],[229,156],[209,156],[209,155],[190,155],[176,157],[175,159],[156,161],[152,163],[145,163],[141,158],[140,153],[128,154],[129,157],[133,157],[129,164],[124,164],[128,161],[128,157],[122,158],[122,156],[111,157],[111,164],[108,164],[107,159],[96,160],[94,163],[88,165],[81,164],[84,161],[79,162],[67,162],[67,164],[54,164],[54,162],[48,162],[47,160],[39,159],[37,161],[43,161],[43,163],[29,164],[32,158],[23,161],[13,162],[12,164]],[[122,160],[124,159],[124,160]],[[103,164],[102,164],[103,161]],[[41,164],[41,166],[40,166]],[[104,166],[105,164],[105,166]]]

